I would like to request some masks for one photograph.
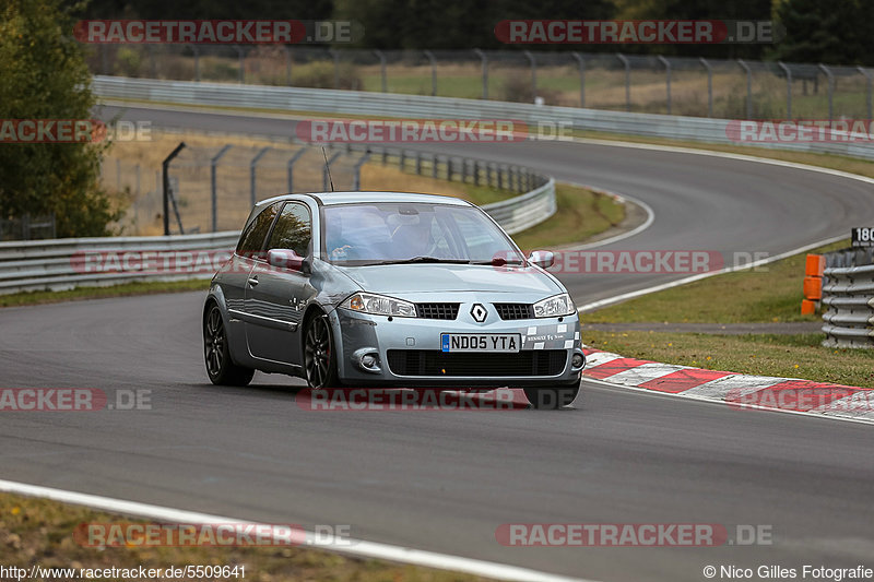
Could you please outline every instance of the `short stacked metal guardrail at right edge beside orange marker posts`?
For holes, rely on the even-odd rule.
[[[825,254],[824,346],[874,347],[874,249]]]

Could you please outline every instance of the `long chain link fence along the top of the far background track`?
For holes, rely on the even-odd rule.
[[[724,119],[872,119],[861,67],[517,50],[99,45],[95,74],[487,98]]]

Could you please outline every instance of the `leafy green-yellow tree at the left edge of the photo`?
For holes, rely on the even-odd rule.
[[[74,20],[59,0],[4,0],[0,120],[86,120],[95,97]],[[118,217],[99,186],[99,143],[0,144],[0,217],[54,213],[62,237],[103,236]]]

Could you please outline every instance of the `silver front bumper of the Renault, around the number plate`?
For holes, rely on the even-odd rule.
[[[339,355],[340,380],[355,385],[439,387],[454,390],[560,387],[579,382],[586,356],[580,348],[580,323],[576,316],[505,321],[488,306],[489,322],[476,323],[464,317],[470,308],[470,305],[462,304],[456,320],[391,318],[391,321],[386,316],[334,309],[329,319]],[[464,360],[463,364],[453,360],[452,365],[441,367],[435,363],[444,360],[445,355],[440,353],[442,333],[518,333],[522,341],[521,352],[468,355],[459,358]],[[417,359],[411,351],[426,353],[427,358],[422,356],[422,361],[427,359],[430,365],[423,365],[415,371],[399,366],[399,356],[401,360],[408,355],[412,360]],[[575,354],[581,361],[580,366],[574,366]],[[364,356],[373,357],[376,364],[368,369],[362,364]],[[556,366],[562,358],[563,364]],[[481,367],[477,366],[477,359]],[[529,368],[523,364],[529,360],[533,365],[519,373],[520,367]],[[507,365],[503,366],[501,361]],[[472,372],[474,369],[477,371]]]

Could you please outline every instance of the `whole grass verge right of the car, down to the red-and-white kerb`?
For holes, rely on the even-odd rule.
[[[812,252],[846,247],[847,241]],[[716,275],[645,295],[582,316],[582,341],[626,357],[740,373],[803,378],[874,387],[874,352],[820,345],[819,333],[710,335],[651,331],[610,332],[587,323],[776,323],[817,321],[801,316],[806,253],[770,263],[761,271]]]

